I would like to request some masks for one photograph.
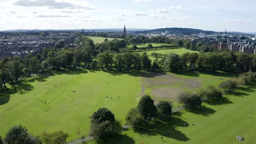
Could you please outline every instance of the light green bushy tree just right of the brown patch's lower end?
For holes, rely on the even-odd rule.
[[[201,89],[198,93],[199,97],[205,100],[216,100],[222,98],[222,91],[214,86],[208,86],[206,89]]]

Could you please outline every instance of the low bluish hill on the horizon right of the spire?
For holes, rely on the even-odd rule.
[[[212,34],[217,33],[214,31],[203,31],[202,29],[193,29],[193,28],[159,28],[159,29],[151,29],[148,31],[138,31],[138,33],[161,33],[161,32],[170,32],[173,33],[179,33],[179,34],[198,34],[198,33],[206,33],[206,34]]]

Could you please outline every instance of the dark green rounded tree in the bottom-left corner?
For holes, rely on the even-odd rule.
[[[21,125],[11,128],[4,138],[5,144],[30,144],[30,135],[27,129]]]

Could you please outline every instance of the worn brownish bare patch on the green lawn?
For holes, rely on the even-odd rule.
[[[142,93],[146,88],[156,98],[177,98],[184,89],[194,89],[201,86],[196,79],[184,79],[173,74],[149,73],[142,75]]]

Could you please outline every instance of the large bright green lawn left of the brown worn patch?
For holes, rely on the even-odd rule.
[[[78,131],[80,136],[87,136],[88,116],[101,107],[107,107],[124,122],[127,111],[137,105],[141,91],[139,77],[134,75],[66,71],[15,86],[20,91],[10,92],[9,102],[0,105],[0,136],[18,124],[33,135],[62,130],[70,134],[68,140],[79,137]]]

